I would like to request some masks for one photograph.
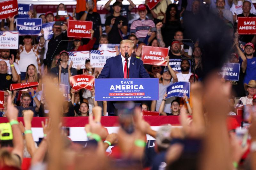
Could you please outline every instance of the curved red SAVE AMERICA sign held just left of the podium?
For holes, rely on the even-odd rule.
[[[69,81],[71,83],[71,87],[75,89],[75,91],[80,89],[91,90],[94,86],[94,76],[80,74],[76,76],[71,76]]]

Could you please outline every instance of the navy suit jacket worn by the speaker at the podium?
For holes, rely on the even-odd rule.
[[[115,57],[108,58],[98,78],[124,78],[124,70],[121,57],[121,55],[117,55]],[[131,57],[129,78],[150,78],[148,72],[143,66],[143,61],[136,57]],[[113,103],[116,102],[118,101],[107,102],[107,112],[109,114],[117,114],[115,113],[115,107],[113,105]]]

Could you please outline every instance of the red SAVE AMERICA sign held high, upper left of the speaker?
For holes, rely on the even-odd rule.
[[[68,37],[92,38],[92,21],[68,20]]]

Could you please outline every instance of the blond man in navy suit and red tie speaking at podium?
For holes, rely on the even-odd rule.
[[[131,57],[134,51],[134,43],[131,40],[120,42],[120,53],[115,57],[108,58],[98,78],[150,78],[143,67],[143,61]],[[126,59],[127,57],[127,59]],[[128,60],[128,61],[127,61]],[[128,62],[128,69],[127,69]],[[128,74],[127,74],[128,72]],[[128,75],[128,76],[127,76]],[[109,115],[116,115],[114,101],[108,101],[107,112]]]

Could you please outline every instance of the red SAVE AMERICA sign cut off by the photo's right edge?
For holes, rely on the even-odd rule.
[[[239,34],[256,34],[256,17],[238,17],[237,29]]]

